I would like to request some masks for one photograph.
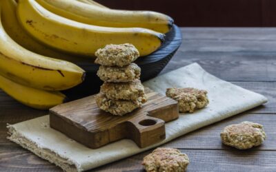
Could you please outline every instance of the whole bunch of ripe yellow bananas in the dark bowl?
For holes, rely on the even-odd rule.
[[[112,10],[92,0],[1,0],[0,88],[36,109],[63,103],[84,79],[74,64],[107,44],[155,52],[172,27],[165,14]],[[73,63],[70,63],[71,61]]]

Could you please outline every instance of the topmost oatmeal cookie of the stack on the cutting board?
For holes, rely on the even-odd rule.
[[[139,57],[139,52],[135,46],[129,43],[110,44],[97,50],[95,56],[97,56],[95,63],[99,65],[123,67],[135,61]]]

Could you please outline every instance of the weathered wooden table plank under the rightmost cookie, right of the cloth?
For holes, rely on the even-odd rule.
[[[264,126],[266,132],[266,140],[260,147],[254,150],[276,150],[276,114],[238,114],[232,118],[222,120],[213,125],[209,125],[197,131],[181,136],[172,142],[168,142],[165,147],[175,147],[179,149],[224,149],[235,150],[235,148],[227,147],[221,144],[219,133],[227,125],[237,124],[243,121],[258,122]]]

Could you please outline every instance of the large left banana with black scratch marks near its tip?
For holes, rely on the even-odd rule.
[[[2,2],[2,1],[1,1]],[[0,17],[2,8],[0,2]],[[14,42],[0,22],[0,74],[37,89],[63,90],[83,81],[83,69],[67,61],[35,54]]]

